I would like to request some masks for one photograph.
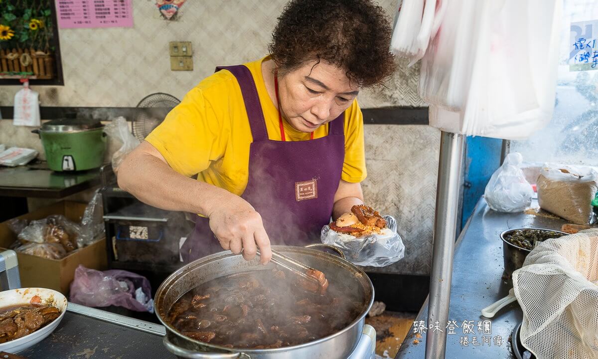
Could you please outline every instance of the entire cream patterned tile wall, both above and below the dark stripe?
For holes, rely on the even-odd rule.
[[[266,54],[266,44],[285,0],[185,2],[179,20],[161,19],[153,0],[134,0],[133,28],[61,29],[65,86],[33,86],[43,106],[135,107],[146,95],[182,98],[216,65],[233,65]],[[381,0],[389,17],[397,0]],[[191,41],[194,71],[170,71],[169,41]],[[359,95],[363,108],[422,106],[418,65],[399,61],[395,76],[376,92]],[[18,86],[0,86],[0,105],[13,104]],[[36,148],[28,127],[0,121],[0,143]],[[382,271],[428,274],[440,134],[428,126],[367,125],[368,204],[393,215],[404,238],[405,258]],[[109,154],[118,149],[110,145]],[[106,160],[108,160],[108,157]]]

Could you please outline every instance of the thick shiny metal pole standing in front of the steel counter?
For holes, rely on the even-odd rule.
[[[444,359],[449,319],[450,283],[463,165],[464,136],[442,132],[434,218],[434,247],[426,333],[426,359]],[[437,326],[437,328],[434,328]]]

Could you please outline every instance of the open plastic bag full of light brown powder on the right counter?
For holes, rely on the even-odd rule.
[[[575,224],[590,225],[596,220],[592,200],[598,190],[598,172],[589,167],[542,168],[536,186],[542,209]]]

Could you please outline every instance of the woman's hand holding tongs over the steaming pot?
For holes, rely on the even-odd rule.
[[[209,214],[210,229],[220,245],[234,254],[243,252],[243,258],[252,260],[260,248],[260,261],[266,264],[272,257],[270,239],[264,229],[261,215],[239,196],[231,194],[222,199]]]

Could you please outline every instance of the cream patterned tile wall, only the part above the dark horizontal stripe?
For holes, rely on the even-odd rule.
[[[397,0],[382,0],[389,17]],[[33,86],[44,106],[135,107],[146,95],[182,98],[217,65],[259,59],[286,0],[187,1],[176,21],[164,20],[154,0],[133,1],[133,28],[60,29],[65,86]],[[193,71],[170,71],[169,41],[191,41]],[[404,62],[362,107],[423,105],[417,69]],[[19,86],[0,86],[0,105],[13,103]]]

